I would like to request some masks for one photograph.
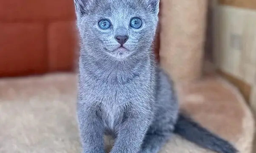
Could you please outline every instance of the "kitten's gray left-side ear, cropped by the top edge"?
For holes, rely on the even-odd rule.
[[[88,8],[92,5],[92,0],[74,0],[77,18],[88,13]]]

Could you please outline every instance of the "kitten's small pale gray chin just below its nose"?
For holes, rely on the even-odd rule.
[[[134,51],[130,51],[124,47],[118,47],[112,52],[107,52],[107,54],[113,58],[115,58],[118,61],[123,61],[129,56],[131,56],[134,53]]]

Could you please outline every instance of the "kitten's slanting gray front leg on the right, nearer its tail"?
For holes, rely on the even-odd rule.
[[[151,124],[152,111],[147,106],[137,107],[131,109],[126,117],[110,153],[137,153]]]

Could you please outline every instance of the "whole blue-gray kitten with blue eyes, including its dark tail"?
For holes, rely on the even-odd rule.
[[[74,0],[80,32],[77,114],[83,153],[157,153],[173,133],[219,153],[225,140],[184,115],[151,45],[159,0]]]

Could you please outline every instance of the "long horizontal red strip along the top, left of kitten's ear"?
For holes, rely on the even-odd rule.
[[[0,20],[74,19],[73,0],[0,0]]]

